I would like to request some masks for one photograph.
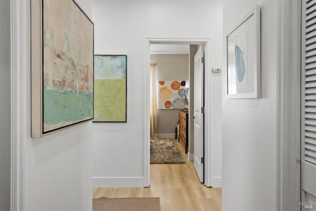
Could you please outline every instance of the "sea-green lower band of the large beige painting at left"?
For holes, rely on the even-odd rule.
[[[93,117],[93,93],[44,89],[44,132]]]

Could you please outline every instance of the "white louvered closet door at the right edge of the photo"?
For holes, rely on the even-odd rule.
[[[316,211],[316,0],[302,8],[301,209]]]

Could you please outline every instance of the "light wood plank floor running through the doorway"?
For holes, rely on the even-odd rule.
[[[222,189],[200,183],[181,142],[186,164],[150,165],[149,188],[93,188],[93,198],[160,197],[161,211],[221,211]]]

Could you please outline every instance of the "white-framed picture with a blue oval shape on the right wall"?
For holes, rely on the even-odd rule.
[[[226,37],[227,98],[260,98],[260,6],[255,6]]]

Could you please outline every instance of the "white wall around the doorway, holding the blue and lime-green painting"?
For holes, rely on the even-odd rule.
[[[143,64],[145,38],[212,38],[211,61],[222,65],[221,0],[93,0],[95,54],[127,54],[127,123],[93,124],[93,186],[144,186]],[[197,14],[198,11],[198,14]],[[209,70],[207,70],[209,71]],[[221,74],[214,75],[213,173],[221,177]],[[209,90],[210,91],[210,90]],[[216,152],[216,153],[215,153]]]

